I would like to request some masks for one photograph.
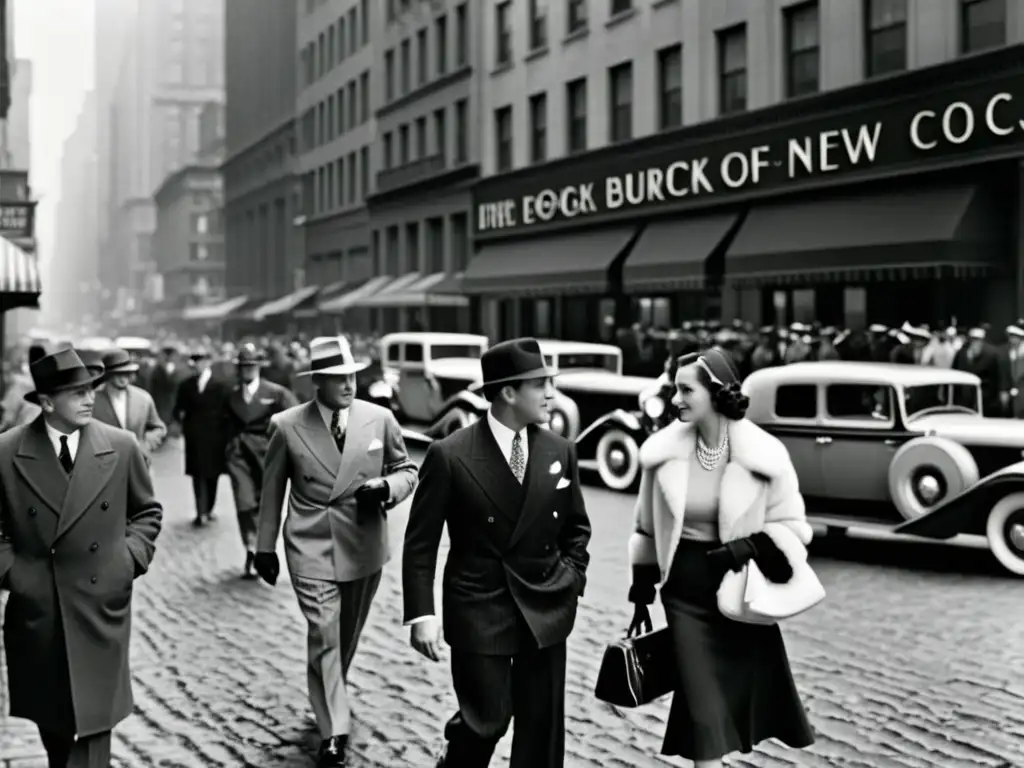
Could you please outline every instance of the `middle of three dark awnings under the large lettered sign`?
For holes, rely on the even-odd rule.
[[[623,288],[628,293],[703,288],[705,261],[738,217],[728,213],[648,224],[623,266]]]

